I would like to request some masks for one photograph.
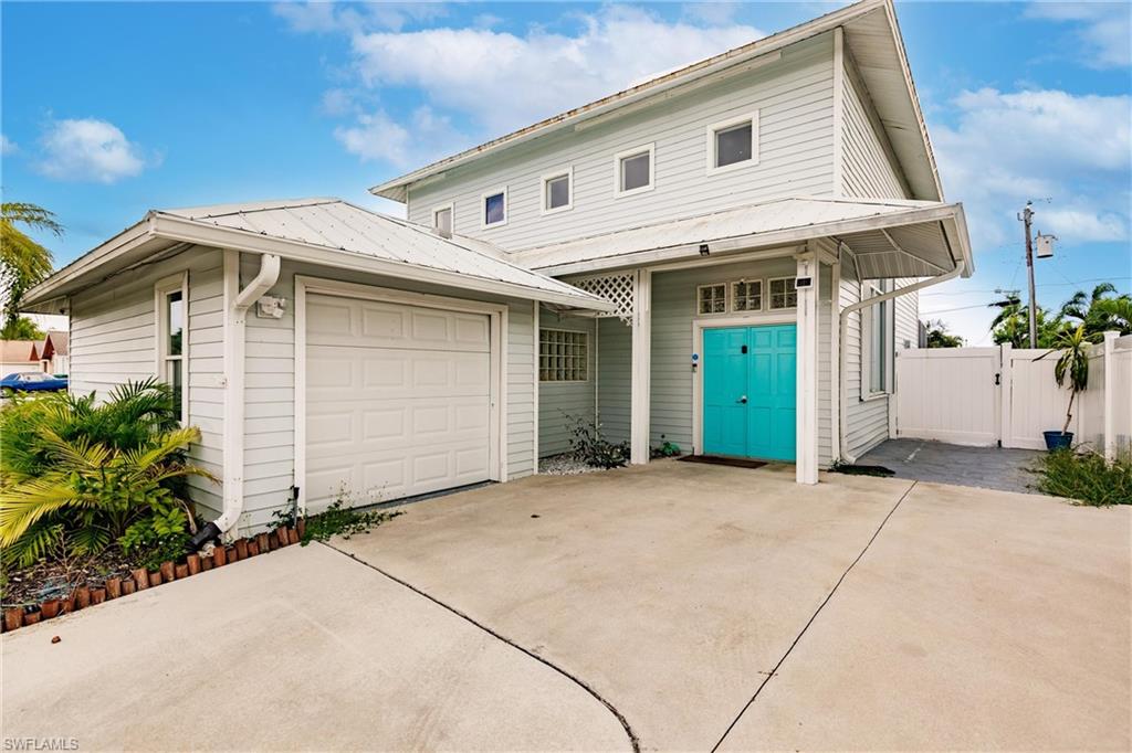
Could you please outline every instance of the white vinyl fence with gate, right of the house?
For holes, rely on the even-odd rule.
[[[1043,348],[932,348],[897,357],[897,435],[976,447],[1045,448],[1061,430],[1070,391],[1057,354]],[[1106,457],[1132,452],[1132,335],[1092,346],[1089,389],[1077,397],[1074,444]]]

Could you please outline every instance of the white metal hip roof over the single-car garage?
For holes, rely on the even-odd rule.
[[[24,302],[32,309],[50,308],[51,302],[178,243],[274,253],[565,306],[611,308],[598,296],[506,261],[504,252],[482,241],[440,237],[421,225],[334,198],[152,210],[140,223],[28,291]]]

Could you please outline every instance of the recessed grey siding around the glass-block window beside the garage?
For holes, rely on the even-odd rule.
[[[597,320],[557,314],[543,309],[539,327],[586,332],[590,336],[589,378],[584,382],[539,383],[539,456],[544,458],[569,451],[569,418],[582,418],[590,423],[597,421]]]

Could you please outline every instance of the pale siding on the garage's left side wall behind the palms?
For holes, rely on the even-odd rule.
[[[156,366],[154,283],[189,271],[188,380],[189,424],[201,433],[189,449],[194,462],[221,475],[221,405],[223,388],[220,314],[221,254],[194,246],[172,259],[128,276],[105,280],[71,298],[70,391],[95,392],[104,399],[127,381],[148,379]],[[190,481],[191,496],[203,512],[218,512],[220,486]]]

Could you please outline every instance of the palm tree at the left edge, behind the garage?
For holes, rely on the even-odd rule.
[[[5,328],[19,317],[24,293],[51,274],[51,251],[24,234],[17,224],[55,236],[63,233],[54,214],[43,207],[16,201],[0,205],[0,304]]]

